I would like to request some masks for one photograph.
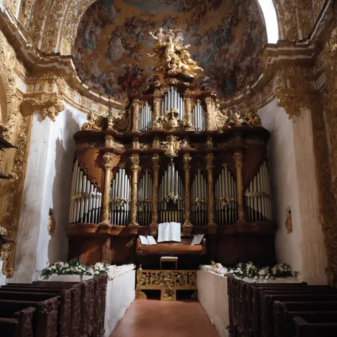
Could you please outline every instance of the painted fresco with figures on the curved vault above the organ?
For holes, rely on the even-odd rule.
[[[78,75],[106,95],[127,101],[145,90],[154,63],[149,31],[180,28],[205,71],[200,85],[232,97],[261,73],[267,33],[255,0],[99,0],[82,17],[73,57]]]

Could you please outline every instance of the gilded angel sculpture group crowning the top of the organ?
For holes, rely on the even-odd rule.
[[[187,51],[191,45],[185,46],[182,43],[181,30],[164,31],[163,28],[159,28],[155,33],[149,33],[154,38],[154,47],[153,53],[147,55],[156,60],[157,70],[167,71],[169,75],[182,73],[189,77],[198,77],[203,73],[203,68],[192,60],[191,54]]]

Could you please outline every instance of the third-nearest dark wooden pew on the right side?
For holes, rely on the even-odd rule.
[[[337,294],[264,294],[260,293],[261,336],[274,336],[274,301],[337,301]]]

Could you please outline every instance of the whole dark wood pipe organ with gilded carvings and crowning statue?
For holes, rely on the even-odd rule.
[[[145,92],[118,115],[88,114],[76,142],[67,228],[70,258],[141,263],[179,254],[181,269],[216,260],[274,264],[267,141],[256,111],[224,110],[198,87],[202,69],[181,31],[156,31]],[[179,244],[144,247],[159,223],[181,223]],[[204,234],[191,246],[191,235]]]

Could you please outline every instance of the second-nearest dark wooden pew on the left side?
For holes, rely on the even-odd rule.
[[[58,301],[55,296],[45,301],[14,301],[9,299],[0,300],[0,317],[12,319],[13,315],[28,307],[36,308],[33,312],[33,336],[55,337],[57,333]]]

